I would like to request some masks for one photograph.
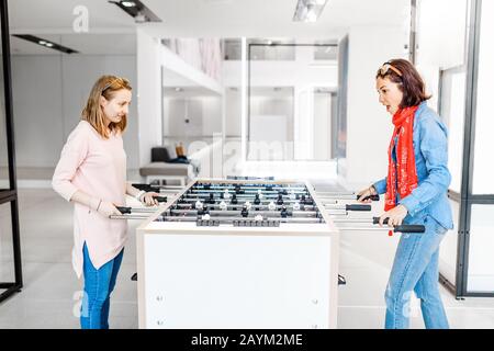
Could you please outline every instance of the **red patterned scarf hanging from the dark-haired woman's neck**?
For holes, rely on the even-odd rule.
[[[384,211],[396,206],[396,188],[400,197],[404,199],[418,185],[414,151],[414,117],[418,106],[400,109],[393,115],[394,132],[388,149],[388,182]],[[393,148],[396,135],[396,165],[393,160]],[[396,174],[397,173],[397,174]],[[397,186],[395,186],[397,184]]]

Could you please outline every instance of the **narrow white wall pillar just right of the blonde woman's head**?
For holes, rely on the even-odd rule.
[[[161,145],[161,43],[137,29],[137,112],[139,166],[150,162],[150,150]]]

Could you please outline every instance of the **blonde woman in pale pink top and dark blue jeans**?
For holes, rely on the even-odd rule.
[[[127,239],[126,220],[110,216],[121,214],[116,206],[125,205],[125,194],[157,204],[157,193],[126,182],[122,133],[131,100],[128,80],[115,76],[97,80],[52,180],[54,190],[75,204],[72,265],[79,279],[85,276],[82,329],[109,328],[110,294]]]

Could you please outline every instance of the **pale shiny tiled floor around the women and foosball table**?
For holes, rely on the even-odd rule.
[[[317,183],[323,185],[327,184]],[[10,245],[5,210],[0,207],[3,248]],[[20,191],[20,216],[24,288],[0,304],[0,328],[78,328],[74,310],[81,282],[70,263],[71,206],[49,189],[26,189]],[[135,272],[136,225],[130,223],[131,237],[112,297],[113,328],[137,328],[136,283],[130,279]],[[347,285],[339,287],[339,328],[382,328],[383,293],[396,244],[397,237],[385,231],[341,234],[340,273]],[[8,259],[8,253],[2,256],[2,280],[9,274]],[[452,328],[494,328],[494,298],[456,301],[441,292]],[[423,328],[419,309],[413,315],[412,328]]]

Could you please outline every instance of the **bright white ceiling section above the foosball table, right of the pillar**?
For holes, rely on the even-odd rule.
[[[409,0],[328,0],[316,23],[293,22],[296,0],[143,0],[164,22],[161,37],[338,38],[350,26],[402,26]]]

